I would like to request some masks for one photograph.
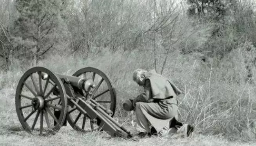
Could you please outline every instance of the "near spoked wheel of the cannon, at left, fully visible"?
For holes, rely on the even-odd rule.
[[[58,96],[53,95],[56,90]],[[39,135],[58,132],[67,114],[65,93],[60,78],[47,68],[27,70],[18,83],[15,97],[16,112],[22,127],[29,133]],[[59,112],[58,117],[54,115],[55,111]]]

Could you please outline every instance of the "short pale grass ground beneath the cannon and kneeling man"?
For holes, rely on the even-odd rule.
[[[151,137],[139,142],[111,138],[105,132],[76,132],[69,125],[62,127],[56,135],[47,137],[31,135],[18,124],[0,128],[1,146],[256,146],[256,143],[230,142],[220,137],[194,133],[189,139]]]

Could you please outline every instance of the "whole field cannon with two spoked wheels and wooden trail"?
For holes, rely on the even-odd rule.
[[[15,106],[22,127],[31,134],[55,134],[68,122],[77,131],[103,130],[113,137],[132,137],[114,120],[116,92],[109,77],[97,68],[85,67],[72,76],[30,68],[18,82]]]

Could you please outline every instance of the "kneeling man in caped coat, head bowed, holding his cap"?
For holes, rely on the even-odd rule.
[[[135,110],[138,137],[168,133],[188,137],[194,131],[190,124],[177,121],[176,96],[181,91],[171,81],[154,70],[147,72],[143,69],[134,71],[133,80],[144,87],[144,92],[134,99],[126,100],[123,108],[127,111]]]

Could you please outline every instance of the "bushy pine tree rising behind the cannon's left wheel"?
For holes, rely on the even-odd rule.
[[[60,13],[63,0],[16,0],[15,7],[20,15],[13,36],[21,58],[33,58],[36,66],[40,56],[67,42],[68,31]]]

